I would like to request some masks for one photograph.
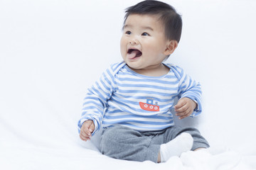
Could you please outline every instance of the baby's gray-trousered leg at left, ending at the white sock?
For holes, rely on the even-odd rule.
[[[152,137],[115,125],[103,130],[101,152],[115,159],[157,162],[160,145],[151,144]]]

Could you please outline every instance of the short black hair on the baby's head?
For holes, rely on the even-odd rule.
[[[175,8],[161,1],[146,0],[139,2],[134,6],[126,8],[124,16],[124,24],[127,17],[131,14],[146,14],[156,15],[164,24],[165,35],[167,40],[176,40],[179,42],[181,39],[182,19],[176,12]]]

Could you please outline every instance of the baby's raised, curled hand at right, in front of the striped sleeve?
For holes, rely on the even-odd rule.
[[[181,98],[176,106],[174,106],[176,115],[179,116],[178,119],[183,119],[191,115],[195,110],[196,106],[197,103],[190,98]]]

